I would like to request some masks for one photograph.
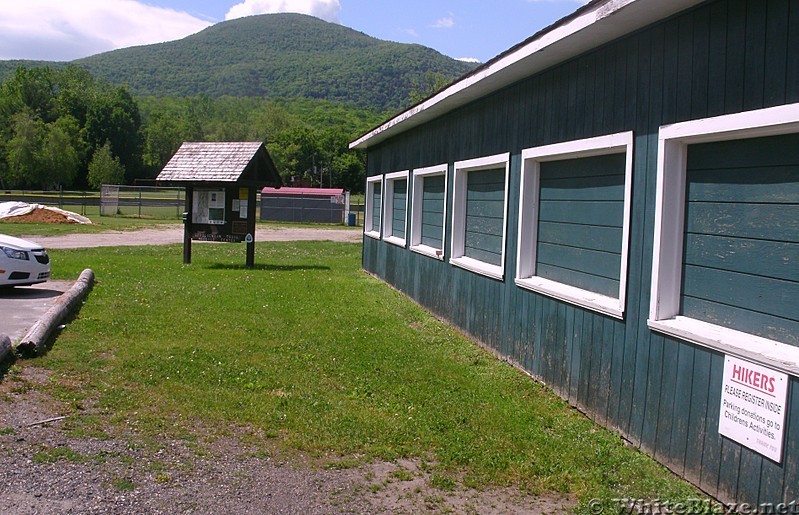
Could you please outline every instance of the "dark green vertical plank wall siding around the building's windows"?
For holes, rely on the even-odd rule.
[[[364,268],[711,495],[752,504],[799,499],[799,380],[790,378],[783,459],[776,464],[718,434],[723,354],[654,332],[646,322],[659,127],[799,102],[797,48],[795,0],[703,2],[370,147],[369,175],[510,152],[508,272],[499,281],[368,237]],[[522,150],[624,131],[633,131],[634,145],[619,320],[519,288],[513,271]],[[449,174],[452,181],[451,168]],[[761,188],[730,187],[752,194]],[[780,226],[796,220],[783,216]],[[451,217],[445,223],[446,248]],[[771,225],[771,238],[786,241]],[[694,247],[687,245],[700,252]]]

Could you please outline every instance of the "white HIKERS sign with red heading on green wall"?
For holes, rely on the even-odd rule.
[[[787,374],[725,356],[719,434],[780,463],[787,394]]]

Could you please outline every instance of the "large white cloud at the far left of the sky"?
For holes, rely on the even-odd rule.
[[[136,0],[3,2],[0,59],[69,61],[134,45],[180,39],[211,25]]]

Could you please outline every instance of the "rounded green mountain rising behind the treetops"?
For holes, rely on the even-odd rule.
[[[19,65],[0,62],[0,78]],[[378,109],[408,104],[430,74],[453,80],[475,68],[420,45],[381,41],[301,14],[221,22],[178,41],[78,59],[137,96],[316,98]]]

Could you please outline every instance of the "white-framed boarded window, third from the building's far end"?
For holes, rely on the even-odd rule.
[[[447,217],[447,165],[413,171],[411,250],[444,259]]]

